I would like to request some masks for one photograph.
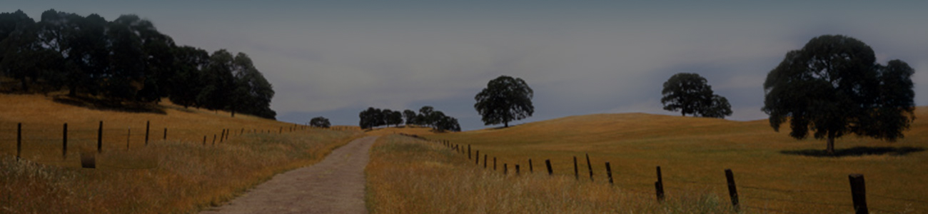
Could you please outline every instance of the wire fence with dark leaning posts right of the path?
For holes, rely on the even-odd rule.
[[[402,134],[402,135],[428,141],[434,144],[443,145],[446,148],[452,150],[453,152],[462,155],[462,157],[466,155],[468,159],[475,159],[475,162],[474,162],[475,165],[477,165],[478,167],[480,166],[481,152],[480,150],[473,149],[470,145],[466,145],[467,149],[465,150],[463,147],[464,145],[453,144],[446,140],[430,140],[430,139],[419,137],[417,135],[409,135],[409,134]],[[477,154],[476,156],[474,157],[470,156],[471,149],[475,151],[475,153]],[[490,161],[489,157],[490,156],[488,154],[486,154],[485,152],[483,153],[483,169],[489,169],[488,167],[488,161]],[[493,161],[492,162],[493,170],[496,170],[496,157],[493,157],[492,161]],[[580,181],[580,168],[578,167],[577,157],[574,156],[573,161],[574,161],[574,179],[577,181]],[[532,158],[528,158],[528,165],[529,165],[528,166],[529,173],[534,173],[534,166],[532,165]],[[588,154],[586,154],[586,166],[587,166],[586,170],[589,173],[589,179],[591,182],[593,182],[594,181],[594,170],[593,170],[592,163],[590,162]],[[553,176],[554,170],[551,168],[551,159],[545,159],[545,167],[547,168],[548,175]],[[520,166],[516,164],[514,165],[514,168],[516,170],[515,174],[518,175],[520,173],[519,171]],[[608,178],[608,183],[610,183],[611,185],[614,185],[614,181],[612,177],[612,167],[611,167],[610,162],[608,161],[605,162],[605,168],[606,168],[605,173],[606,173],[606,178]],[[632,189],[632,188],[624,188],[623,190],[633,195],[653,196],[655,200],[657,200],[658,202],[664,202],[664,199],[666,197],[665,188],[668,188],[668,187],[664,186],[665,181],[664,181],[664,176],[661,171],[661,166],[657,166],[655,168],[655,172],[656,172],[656,177],[651,177],[647,175],[639,175],[639,174],[624,174],[627,176],[635,176],[638,178],[654,178],[655,182],[653,183],[653,192],[649,193],[650,192],[649,190]],[[721,181],[719,181],[718,183],[712,183],[712,182],[688,181],[688,180],[682,180],[682,179],[676,179],[674,183],[685,183],[685,184],[691,184],[691,185],[703,185],[703,186],[712,186],[712,187],[719,187],[719,188],[722,188],[724,186],[724,188],[728,190],[727,191],[728,199],[730,201],[731,208],[735,212],[741,212],[742,209],[747,208],[747,209],[761,210],[761,211],[767,211],[767,212],[776,212],[776,213],[806,214],[804,212],[787,211],[787,210],[776,209],[776,208],[766,208],[763,206],[753,206],[750,203],[749,204],[743,203],[742,199],[748,199],[749,201],[754,201],[754,202],[776,201],[780,203],[795,204],[795,205],[814,205],[814,206],[822,206],[822,207],[831,208],[832,210],[848,210],[848,211],[854,210],[855,213],[869,213],[870,210],[887,212],[887,213],[901,212],[901,210],[893,211],[893,210],[887,210],[884,208],[870,208],[867,205],[868,197],[870,197],[870,199],[878,199],[878,200],[891,200],[891,201],[896,201],[896,202],[915,203],[915,204],[922,204],[922,205],[928,204],[928,200],[924,200],[924,199],[911,199],[911,198],[903,198],[903,197],[888,196],[888,195],[868,194],[866,191],[864,175],[862,174],[849,174],[848,175],[848,181],[851,186],[850,189],[845,189],[845,190],[836,190],[836,189],[789,190],[789,189],[770,188],[770,187],[743,185],[743,184],[737,185],[736,180],[735,180],[734,171],[730,169],[725,169],[720,172],[724,172],[725,179],[726,179],[724,183]],[[504,174],[509,173],[508,163],[503,163],[503,173]],[[678,187],[669,187],[669,188],[674,189],[674,190],[679,190],[679,191],[687,191],[684,188],[678,188]],[[820,201],[814,201],[814,200],[803,201],[803,200],[794,200],[794,199],[783,199],[783,198],[765,196],[764,194],[744,195],[743,193],[739,192],[739,188],[741,188],[742,190],[750,190],[751,192],[754,192],[754,193],[767,192],[767,193],[792,194],[792,195],[816,194],[816,195],[830,195],[830,196],[837,196],[837,197],[846,197],[849,195],[849,197],[847,198],[851,200],[848,201],[848,203],[828,203],[828,202],[820,202]],[[754,203],[754,204],[760,204],[760,203]]]

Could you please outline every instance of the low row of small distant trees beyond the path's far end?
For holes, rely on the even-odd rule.
[[[358,115],[361,118],[361,129],[371,129],[378,126],[399,126],[406,120],[406,125],[419,125],[432,127],[438,131],[460,132],[461,127],[458,119],[445,115],[445,112],[436,111],[433,107],[421,107],[419,113],[406,109],[404,111],[393,111],[391,109],[380,109],[367,107],[367,110],[361,111]]]

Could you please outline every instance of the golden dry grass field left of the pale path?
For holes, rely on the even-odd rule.
[[[73,107],[44,95],[0,94],[0,102],[0,213],[194,212],[274,174],[313,164],[362,136],[170,103],[152,107],[161,113],[126,113]],[[103,153],[97,155],[96,170],[82,169],[80,153],[97,152],[100,120]],[[148,145],[146,121],[151,124]],[[17,161],[19,122],[23,160]],[[63,157],[65,122],[68,152]],[[213,145],[213,134],[223,129],[231,130],[229,138]]]

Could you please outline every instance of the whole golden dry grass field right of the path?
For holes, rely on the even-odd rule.
[[[928,118],[928,108],[918,108],[916,117],[896,143],[854,135],[838,139],[837,157],[822,155],[824,141],[795,140],[788,136],[789,127],[773,132],[767,120],[599,114],[508,129],[414,131],[465,149],[470,145],[473,153],[489,156],[490,167],[483,170],[483,159],[475,165],[466,153],[442,145],[395,135],[381,138],[367,168],[368,207],[375,213],[729,212],[724,170],[731,169],[745,213],[851,213],[851,173],[864,175],[871,213],[925,213],[928,122],[919,119]],[[526,173],[529,158],[532,174]],[[551,160],[555,176],[542,172],[545,159]],[[605,175],[607,161],[612,186]],[[515,164],[521,165],[521,176],[513,175]],[[655,200],[656,166],[663,172],[664,204]]]

